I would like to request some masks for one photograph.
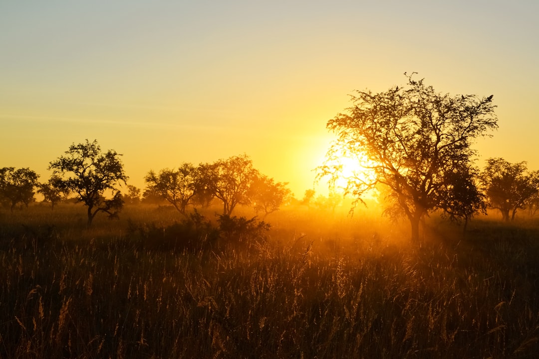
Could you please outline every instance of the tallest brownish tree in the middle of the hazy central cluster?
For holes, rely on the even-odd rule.
[[[246,154],[201,165],[200,171],[208,189],[223,202],[224,215],[230,216],[237,205],[251,203],[250,187],[258,171]]]

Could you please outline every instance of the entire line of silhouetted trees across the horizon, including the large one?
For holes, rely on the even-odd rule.
[[[387,214],[410,221],[412,240],[418,240],[425,216],[435,211],[464,221],[465,229],[469,219],[487,208],[499,210],[504,221],[514,220],[517,210],[528,209],[534,215],[539,208],[539,172],[528,171],[525,162],[502,158],[488,159],[483,170],[474,164],[473,140],[497,128],[493,95],[441,94],[413,75],[405,73],[405,86],[381,93],[356,91],[353,105],[328,121],[337,140],[317,168],[317,180],[329,177],[330,188],[335,188],[343,178],[339,159],[361,162],[359,158],[366,157],[365,168],[372,176],[347,176],[344,195],[353,197],[355,206],[366,192],[378,190],[388,205]],[[96,140],[86,140],[51,161],[52,176],[45,183],[39,183],[29,168],[1,168],[0,201],[11,210],[27,206],[37,188],[52,208],[75,195],[87,207],[88,226],[99,212],[116,217],[125,202],[137,202],[141,196],[140,189],[126,184],[120,157],[114,150],[102,152]],[[245,154],[198,166],[183,163],[150,170],[144,181],[144,199],[167,201],[183,216],[189,206],[207,207],[213,201],[222,204],[223,215],[244,205],[266,216],[292,196],[286,182],[261,174]],[[122,183],[127,186],[125,194],[120,192]],[[302,203],[334,209],[340,199],[336,192],[315,198],[314,190],[307,190]]]

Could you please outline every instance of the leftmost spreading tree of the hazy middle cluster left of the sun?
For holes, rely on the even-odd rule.
[[[179,213],[187,217],[185,208],[189,205],[196,192],[198,178],[197,168],[190,163],[182,164],[177,171],[165,168],[159,174],[148,172],[144,181],[148,188],[159,193]]]

